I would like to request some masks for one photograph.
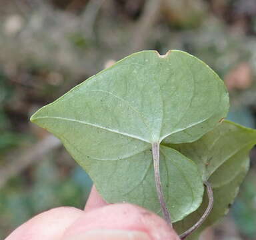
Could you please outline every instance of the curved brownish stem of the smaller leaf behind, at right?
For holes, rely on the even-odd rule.
[[[207,189],[207,196],[209,199],[207,209],[205,210],[205,213],[203,213],[202,217],[200,217],[200,219],[197,221],[197,223],[195,223],[195,225],[193,225],[190,229],[187,229],[187,231],[179,235],[181,240],[185,239],[188,235],[193,233],[193,231],[197,230],[208,217],[208,215],[211,213],[211,209],[213,209],[213,189],[211,188],[211,184],[208,181],[205,181],[204,185]]]

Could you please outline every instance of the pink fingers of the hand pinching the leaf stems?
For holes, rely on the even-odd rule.
[[[5,240],[179,240],[161,217],[129,203],[107,204],[95,187],[85,209],[40,213]]]

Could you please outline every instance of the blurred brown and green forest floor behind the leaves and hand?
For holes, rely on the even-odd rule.
[[[255,128],[255,0],[0,0],[0,239],[91,180],[29,122],[39,107],[142,49],[181,49],[225,81],[229,119]],[[256,151],[231,212],[202,239],[256,239]]]

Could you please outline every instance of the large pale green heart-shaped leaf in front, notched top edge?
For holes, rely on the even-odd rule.
[[[219,124],[228,107],[223,81],[199,59],[182,51],[143,51],[71,89],[31,121],[63,141],[108,202],[158,213],[151,145],[195,141]],[[201,204],[203,183],[177,151],[161,147],[160,155],[161,180],[171,186],[163,189],[165,199],[178,221]],[[173,170],[175,164],[180,170]]]

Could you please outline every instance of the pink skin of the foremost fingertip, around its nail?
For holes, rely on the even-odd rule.
[[[89,211],[67,229],[63,239],[75,239],[77,235],[86,237],[88,231],[99,230],[139,232],[147,234],[151,240],[179,240],[175,231],[161,217],[129,203],[107,205]],[[99,235],[95,239],[105,238]]]

